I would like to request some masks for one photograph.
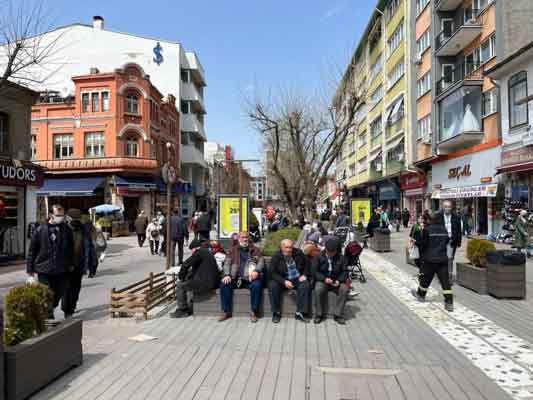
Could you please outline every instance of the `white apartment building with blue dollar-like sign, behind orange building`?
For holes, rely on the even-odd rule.
[[[62,96],[73,93],[73,76],[85,75],[90,68],[114,71],[123,65],[139,64],[152,83],[163,93],[178,99],[181,113],[181,176],[192,183],[193,193],[182,197],[182,207],[194,210],[206,194],[207,164],[204,159],[204,69],[196,53],[180,43],[106,29],[104,19],[93,17],[92,24],[74,23],[43,34],[42,46],[57,43],[49,64],[29,71],[33,76],[50,75],[37,91],[55,90]],[[0,51],[2,49],[0,48]],[[132,83],[134,84],[134,83]]]

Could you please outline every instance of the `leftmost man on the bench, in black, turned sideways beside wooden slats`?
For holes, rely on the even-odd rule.
[[[187,300],[187,292],[205,293],[218,287],[220,274],[217,260],[209,246],[201,246],[185,260],[178,273],[176,284],[176,311],[171,318],[185,318],[192,314]]]

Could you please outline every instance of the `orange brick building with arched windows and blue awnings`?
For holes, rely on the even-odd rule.
[[[166,206],[160,168],[180,161],[176,98],[134,63],[72,82],[73,96],[44,92],[32,108],[32,158],[47,170],[38,195],[85,212],[118,205],[130,225],[141,210],[154,215]],[[186,189],[175,185],[172,206]]]

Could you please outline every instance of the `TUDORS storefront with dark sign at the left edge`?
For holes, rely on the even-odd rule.
[[[42,169],[29,162],[0,160],[0,265],[23,259],[29,224],[35,223],[35,189]]]

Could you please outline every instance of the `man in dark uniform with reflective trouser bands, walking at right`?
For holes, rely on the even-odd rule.
[[[413,289],[412,294],[419,301],[426,299],[427,291],[435,274],[439,278],[444,295],[444,307],[453,311],[453,293],[448,274],[448,243],[450,238],[444,225],[441,224],[441,214],[432,215],[429,225],[422,229],[421,238],[417,241],[422,265],[420,270],[420,284]]]

